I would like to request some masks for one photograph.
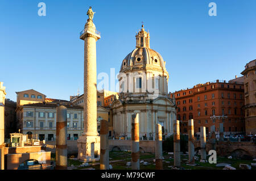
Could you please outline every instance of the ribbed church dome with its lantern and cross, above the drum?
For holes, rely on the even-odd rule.
[[[166,71],[166,62],[162,56],[150,48],[149,32],[141,31],[136,33],[136,48],[122,61],[120,72],[126,72],[131,69],[156,69]]]

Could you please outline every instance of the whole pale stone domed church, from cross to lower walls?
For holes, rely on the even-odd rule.
[[[173,134],[175,98],[168,95],[166,61],[150,48],[149,32],[136,33],[136,48],[122,61],[118,75],[119,99],[110,110],[114,136],[131,137],[131,115],[139,114],[140,137],[154,137],[155,124],[166,136]]]

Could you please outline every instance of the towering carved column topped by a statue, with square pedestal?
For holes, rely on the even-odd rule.
[[[96,41],[101,38],[93,23],[92,7],[80,39],[84,40],[84,132],[77,140],[78,158],[83,161],[100,158],[100,136],[97,132]]]

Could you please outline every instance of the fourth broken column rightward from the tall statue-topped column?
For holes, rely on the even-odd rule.
[[[180,167],[180,121],[174,120],[174,166]]]

